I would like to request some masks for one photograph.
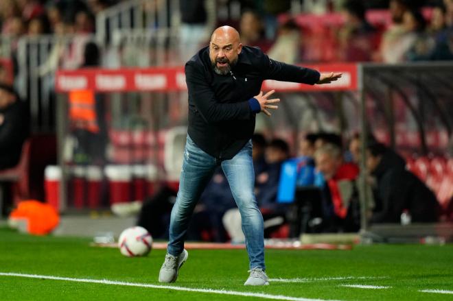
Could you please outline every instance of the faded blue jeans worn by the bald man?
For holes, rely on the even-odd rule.
[[[218,160],[203,152],[187,135],[179,191],[170,220],[168,253],[177,256],[183,252],[190,217],[217,165]],[[252,142],[248,141],[231,160],[222,160],[220,165],[241,213],[242,231],[246,238],[250,268],[265,269],[263,216],[253,193],[255,173],[253,172]]]

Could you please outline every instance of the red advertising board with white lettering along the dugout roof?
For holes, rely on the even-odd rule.
[[[264,90],[277,91],[354,91],[357,89],[356,64],[308,65],[321,72],[342,72],[342,78],[328,85],[298,84],[266,80]],[[183,67],[148,69],[78,69],[60,70],[56,73],[56,91],[66,93],[73,90],[98,92],[131,91],[184,91]]]

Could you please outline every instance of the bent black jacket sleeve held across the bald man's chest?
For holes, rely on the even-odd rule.
[[[220,104],[209,86],[204,71],[196,67],[196,62],[185,65],[185,81],[189,91],[189,99],[208,123],[227,120],[251,119],[252,111],[248,101],[235,104]]]

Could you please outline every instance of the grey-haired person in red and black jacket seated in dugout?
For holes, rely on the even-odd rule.
[[[360,208],[356,189],[359,169],[353,163],[343,162],[341,149],[325,144],[314,154],[316,168],[323,173],[327,185],[323,211],[328,231],[355,232],[360,228]]]

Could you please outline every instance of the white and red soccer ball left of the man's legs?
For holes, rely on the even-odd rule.
[[[127,228],[119,235],[118,248],[124,256],[146,256],[152,248],[151,234],[143,227]]]

